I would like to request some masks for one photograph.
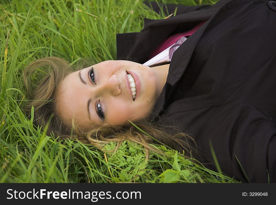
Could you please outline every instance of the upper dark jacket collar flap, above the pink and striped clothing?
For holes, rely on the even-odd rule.
[[[144,19],[144,28],[140,32],[117,34],[117,60],[130,60],[143,64],[154,49],[179,25],[193,28],[201,21],[207,21],[216,8],[184,13],[168,19]],[[158,36],[158,37],[157,37]]]

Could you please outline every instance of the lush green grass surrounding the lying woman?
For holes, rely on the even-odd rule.
[[[64,3],[66,2],[66,3]],[[170,1],[186,5],[214,1]],[[13,0],[0,8],[0,182],[235,182],[163,146],[167,156],[125,142],[115,154],[46,136],[21,111],[22,72],[35,59],[76,63],[116,58],[116,33],[137,32],[161,15],[135,0]],[[57,136],[56,136],[57,137]],[[106,146],[113,149],[114,143]]]

